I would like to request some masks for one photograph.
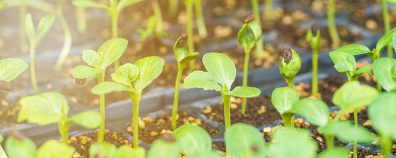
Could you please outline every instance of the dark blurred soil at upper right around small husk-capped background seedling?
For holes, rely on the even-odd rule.
[[[294,30],[281,32],[278,35],[277,40],[290,43],[302,50],[311,51],[310,44],[306,41],[307,31],[307,28],[297,28]],[[363,39],[363,36],[360,34],[359,30],[350,30],[347,26],[337,26],[337,32],[339,33],[341,39],[341,44],[339,46],[333,44],[327,27],[320,28],[322,40],[319,52],[327,51],[332,48],[338,48],[340,46],[354,43]]]

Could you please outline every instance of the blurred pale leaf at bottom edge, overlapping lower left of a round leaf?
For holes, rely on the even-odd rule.
[[[180,146],[176,142],[166,142],[158,139],[152,143],[146,158],[179,158]]]

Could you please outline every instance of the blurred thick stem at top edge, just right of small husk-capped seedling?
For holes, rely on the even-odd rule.
[[[336,23],[334,20],[336,12],[336,0],[329,0],[329,8],[327,10],[327,20],[331,40],[334,46],[338,46],[341,43],[340,36],[337,33]]]

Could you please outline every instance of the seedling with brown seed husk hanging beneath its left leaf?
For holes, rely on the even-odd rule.
[[[118,60],[127,48],[128,40],[111,39],[104,42],[98,49],[83,51],[83,60],[91,67],[79,65],[73,68],[72,75],[76,78],[76,83],[84,84],[87,78],[96,76],[98,83],[104,81],[104,72],[106,68],[114,61]],[[98,142],[103,141],[104,136],[104,94],[99,95],[99,106],[101,123],[98,133]]]

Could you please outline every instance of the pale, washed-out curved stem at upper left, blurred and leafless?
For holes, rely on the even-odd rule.
[[[62,25],[64,34],[63,48],[55,64],[55,70],[59,71],[64,61],[66,60],[67,55],[69,55],[72,41],[69,26],[67,26],[67,22],[63,16],[62,0],[56,1],[56,13],[58,15],[60,24]]]

